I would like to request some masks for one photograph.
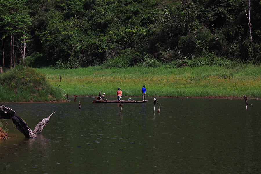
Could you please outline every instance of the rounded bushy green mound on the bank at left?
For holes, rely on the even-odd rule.
[[[16,66],[0,76],[0,100],[29,102],[62,100],[61,89],[46,83],[45,76],[35,69]]]

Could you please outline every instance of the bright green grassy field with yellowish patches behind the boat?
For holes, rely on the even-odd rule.
[[[261,67],[245,65],[226,67],[157,68],[127,67],[104,69],[101,66],[80,69],[41,68],[51,85],[59,85],[72,95],[115,96],[121,88],[123,96],[158,97],[231,97],[261,98]],[[60,82],[61,74],[61,82]]]

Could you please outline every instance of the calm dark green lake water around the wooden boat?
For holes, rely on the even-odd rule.
[[[244,99],[157,98],[155,113],[153,98],[147,99],[124,103],[121,116],[119,104],[85,97],[2,103],[32,130],[55,113],[34,139],[1,120],[12,138],[0,140],[0,173],[260,173],[260,99],[246,109]]]

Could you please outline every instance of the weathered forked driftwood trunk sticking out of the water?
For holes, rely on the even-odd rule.
[[[52,113],[53,114],[53,113]],[[52,114],[50,116],[52,116]],[[50,119],[50,116],[48,117]],[[48,119],[47,118],[47,119]],[[26,122],[23,119],[16,115],[16,112],[10,109],[7,106],[0,104],[0,119],[11,119],[12,122],[16,125],[16,128],[23,133],[26,138],[36,138],[35,133],[27,126]],[[48,119],[48,120],[49,120]],[[42,122],[43,124],[40,125],[42,129],[46,126],[47,122]],[[43,121],[43,120],[42,120]],[[40,122],[39,122],[40,123]],[[39,124],[38,123],[38,124]],[[37,124],[37,125],[38,125]],[[41,132],[41,131],[40,131]]]

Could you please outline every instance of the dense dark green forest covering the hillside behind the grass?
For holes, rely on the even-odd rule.
[[[261,60],[260,0],[1,0],[0,66]]]

